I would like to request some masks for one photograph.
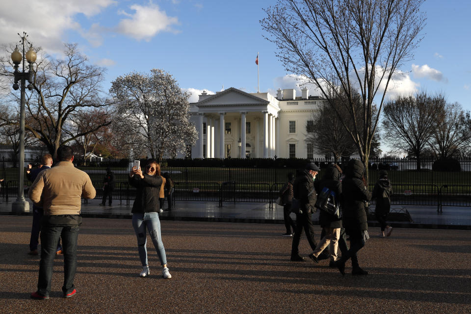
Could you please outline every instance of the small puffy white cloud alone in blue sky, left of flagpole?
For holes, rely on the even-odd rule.
[[[115,30],[137,40],[150,41],[161,31],[175,31],[171,26],[179,24],[178,18],[167,16],[165,11],[160,10],[158,5],[152,2],[148,6],[133,4],[130,8],[135,11],[133,14],[118,12],[129,19],[121,20]]]

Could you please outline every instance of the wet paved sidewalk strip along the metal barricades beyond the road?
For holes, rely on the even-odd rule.
[[[8,203],[0,204],[0,215],[31,214],[12,212],[11,204],[14,200],[10,198]],[[127,206],[126,201],[120,205],[119,201],[114,200],[112,206],[99,206],[101,200],[93,199],[82,204],[81,214],[90,218],[131,218],[132,202]],[[283,224],[283,207],[275,204],[273,206],[274,209],[270,209],[268,203],[224,202],[223,206],[219,207],[218,202],[177,201],[171,211],[161,213],[160,219]],[[32,210],[31,203],[30,209]],[[469,207],[444,207],[443,212],[438,213],[436,207],[393,205],[392,211],[397,210],[407,210],[413,221],[390,221],[393,227],[471,230]],[[314,214],[313,219],[317,220],[318,214]],[[379,226],[374,220],[368,224]]]

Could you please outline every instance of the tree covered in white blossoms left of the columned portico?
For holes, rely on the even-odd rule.
[[[152,69],[150,74],[120,76],[112,81],[110,93],[118,102],[119,116],[136,127],[152,158],[175,157],[195,144],[196,128],[188,120],[190,95],[167,72]]]

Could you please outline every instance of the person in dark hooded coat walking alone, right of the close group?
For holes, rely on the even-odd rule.
[[[371,198],[376,199],[376,208],[374,214],[381,226],[381,234],[379,236],[384,237],[385,233],[387,236],[391,235],[392,227],[386,224],[389,210],[391,209],[391,195],[392,187],[391,182],[388,179],[388,171],[381,170],[379,172],[379,179],[374,185]]]

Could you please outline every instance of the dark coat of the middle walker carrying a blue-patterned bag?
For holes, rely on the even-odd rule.
[[[337,201],[342,197],[342,184],[339,181],[340,173],[336,167],[327,167],[322,170],[322,180],[316,184],[317,191],[320,192],[324,187],[335,192]],[[319,210],[319,223],[322,228],[342,228],[342,218],[332,215],[324,210]]]

